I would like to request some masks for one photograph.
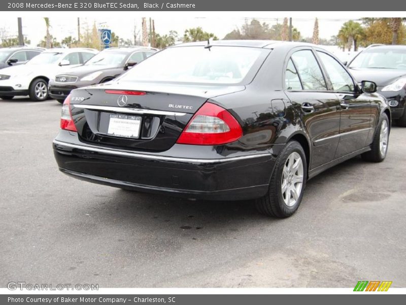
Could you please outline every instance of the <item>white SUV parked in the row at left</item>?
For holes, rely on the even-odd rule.
[[[0,70],[0,98],[29,95],[32,101],[48,99],[48,81],[66,66],[79,66],[97,50],[88,48],[55,48],[42,52],[25,65]]]

